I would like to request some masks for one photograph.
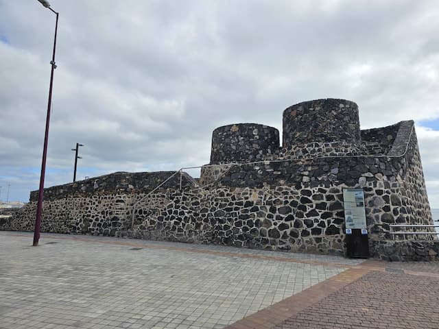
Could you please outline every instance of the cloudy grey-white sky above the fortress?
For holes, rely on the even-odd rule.
[[[229,123],[281,129],[294,103],[359,104],[361,128],[414,119],[439,208],[439,2],[51,0],[60,12],[45,186],[209,162]],[[0,199],[38,188],[55,15],[0,0]],[[196,175],[196,173],[193,173]]]

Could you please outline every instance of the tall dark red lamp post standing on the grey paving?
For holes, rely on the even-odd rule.
[[[44,178],[46,173],[46,158],[47,158],[47,141],[49,140],[49,121],[50,121],[50,109],[52,104],[52,88],[54,86],[54,71],[56,69],[55,64],[55,49],[56,49],[56,33],[58,32],[58,16],[59,13],[50,8],[50,3],[46,0],[38,0],[45,8],[56,14],[55,23],[55,36],[54,36],[54,50],[52,52],[51,72],[50,72],[50,84],[49,84],[49,100],[47,101],[47,117],[46,117],[46,130],[44,135],[44,147],[43,147],[43,159],[41,160],[41,175],[40,175],[40,188],[38,189],[38,203],[36,205],[36,218],[35,218],[35,230],[34,230],[34,246],[38,245],[40,239],[40,226],[41,215],[43,212],[43,197],[44,197]]]

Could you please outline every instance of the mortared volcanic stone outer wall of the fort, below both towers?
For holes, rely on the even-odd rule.
[[[54,198],[45,202],[42,230],[344,254],[342,190],[350,186],[364,188],[371,251],[380,257],[374,241],[392,239],[390,224],[431,220],[420,169],[412,132],[399,158],[235,164],[209,188]],[[8,229],[32,230],[35,204]]]

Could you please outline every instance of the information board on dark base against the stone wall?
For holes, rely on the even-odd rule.
[[[369,241],[362,188],[344,188],[344,223],[348,257],[368,258]]]

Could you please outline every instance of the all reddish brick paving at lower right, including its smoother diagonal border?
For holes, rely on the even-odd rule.
[[[439,329],[439,263],[368,260],[228,329]]]

